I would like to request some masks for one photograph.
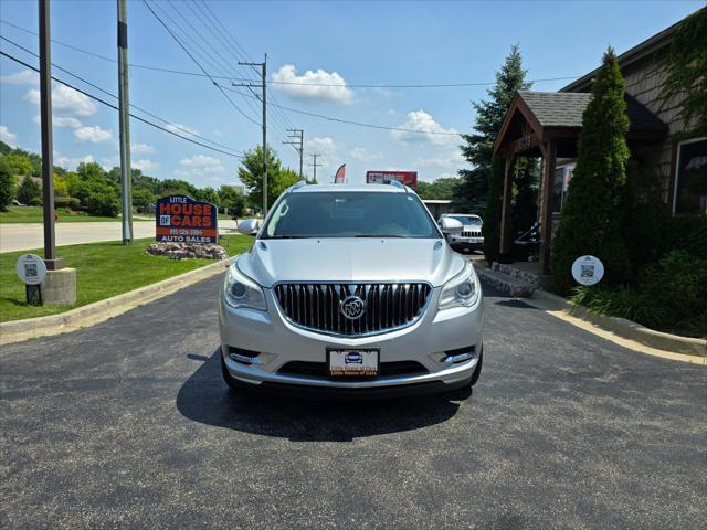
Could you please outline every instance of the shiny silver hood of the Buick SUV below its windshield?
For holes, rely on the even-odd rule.
[[[444,284],[464,258],[442,240],[257,240],[238,259],[263,287],[277,282],[430,282]]]

